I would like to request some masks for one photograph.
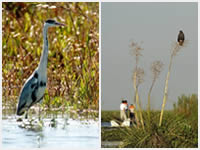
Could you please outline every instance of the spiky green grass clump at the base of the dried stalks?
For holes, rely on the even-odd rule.
[[[187,119],[173,112],[166,112],[163,125],[158,126],[159,113],[141,128],[127,129],[121,147],[137,148],[191,148],[198,147],[198,131]],[[127,137],[127,138],[125,138]]]

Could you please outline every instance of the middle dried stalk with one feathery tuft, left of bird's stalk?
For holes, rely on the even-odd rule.
[[[153,86],[156,82],[156,79],[159,77],[160,75],[160,72],[163,68],[163,63],[161,61],[154,61],[151,65],[151,71],[153,73],[153,80],[152,80],[152,84],[151,84],[151,87],[149,89],[149,93],[148,93],[148,106],[147,106],[147,112],[148,112],[148,118],[149,118],[149,121],[150,121],[150,101],[151,101],[151,91],[153,89]]]

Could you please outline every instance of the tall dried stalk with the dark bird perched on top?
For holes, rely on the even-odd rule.
[[[163,113],[164,113],[164,109],[165,109],[165,105],[166,105],[166,101],[167,101],[168,82],[169,82],[169,76],[170,76],[171,67],[172,67],[172,60],[173,60],[174,56],[176,56],[176,54],[180,51],[181,48],[182,48],[182,46],[180,46],[178,43],[176,43],[174,45],[174,48],[172,50],[172,54],[171,54],[171,57],[170,57],[170,63],[169,63],[169,67],[168,67],[168,73],[167,73],[167,77],[166,77],[166,81],[165,81],[165,90],[164,90],[164,96],[163,96],[162,109],[161,109],[161,113],[160,113],[159,126],[162,125]]]

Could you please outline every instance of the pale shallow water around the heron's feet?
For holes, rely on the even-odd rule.
[[[98,122],[56,118],[57,127],[50,127],[50,119],[43,119],[42,130],[20,128],[15,117],[2,119],[3,148],[98,148]],[[66,123],[67,122],[67,123]]]

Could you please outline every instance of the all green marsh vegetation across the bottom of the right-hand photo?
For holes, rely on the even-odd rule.
[[[163,125],[159,126],[160,111],[143,111],[144,127],[102,127],[102,147],[129,148],[195,148],[198,147],[197,95],[182,95],[173,110],[165,110]],[[102,122],[119,118],[119,111],[102,111]],[[105,144],[106,142],[106,144]],[[112,142],[118,144],[113,145]],[[110,143],[110,144],[107,144]]]

